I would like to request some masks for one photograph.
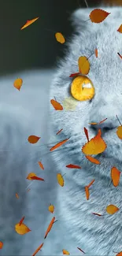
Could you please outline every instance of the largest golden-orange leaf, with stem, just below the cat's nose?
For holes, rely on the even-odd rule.
[[[98,134],[82,147],[82,152],[83,154],[100,154],[105,151],[106,147],[101,137],[101,129],[99,129]]]

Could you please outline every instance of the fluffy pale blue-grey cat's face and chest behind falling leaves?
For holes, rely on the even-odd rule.
[[[72,225],[74,228],[75,232],[72,232],[80,243],[86,243],[89,239],[90,248],[93,250],[95,248],[96,254],[109,255],[109,253],[112,254],[112,244],[115,239],[112,233],[116,235],[120,231],[118,225],[120,215],[118,213],[116,220],[110,216],[99,222],[98,219],[93,219],[91,212],[102,211],[110,203],[113,205],[118,203],[119,206],[122,206],[118,196],[118,193],[119,195],[121,193],[121,180],[119,188],[109,187],[110,169],[116,166],[122,170],[122,141],[116,135],[116,128],[120,125],[116,115],[122,121],[122,60],[117,54],[122,54],[122,35],[116,32],[120,27],[122,14],[119,7],[102,7],[102,9],[111,14],[100,24],[94,24],[88,20],[92,9],[79,9],[73,15],[73,23],[76,25],[78,33],[73,35],[73,38],[68,42],[65,59],[61,61],[57,69],[50,91],[50,99],[55,97],[57,102],[63,105],[65,98],[72,96],[71,85],[74,78],[69,76],[79,72],[79,57],[86,56],[89,58],[91,56],[89,58],[91,68],[87,77],[94,84],[94,97],[86,101],[74,99],[76,102],[75,110],[56,111],[50,106],[50,112],[54,134],[63,128],[58,138],[57,135],[55,136],[55,141],[70,137],[64,147],[52,154],[57,161],[58,171],[60,169],[62,173],[66,173],[67,185],[62,192],[64,193],[64,201],[61,202],[61,208],[63,210],[65,208],[65,213],[63,212],[62,215],[68,216],[69,226]],[[85,20],[87,21],[84,22]],[[95,48],[98,49],[98,58],[94,54]],[[107,120],[99,126],[89,124],[100,122],[105,118]],[[94,165],[87,161],[82,153],[81,149],[87,143],[83,131],[84,127],[87,128],[90,139],[97,135],[98,128],[102,130],[102,139],[105,140],[107,148],[104,153],[95,156],[101,165]],[[80,172],[77,170],[70,170],[69,172],[65,169],[65,165],[68,164],[80,165],[82,169]],[[96,184],[94,183],[91,202],[87,204],[84,187],[93,179],[96,179]],[[73,206],[74,202],[75,206]],[[112,221],[114,221],[113,227]],[[107,237],[109,238],[107,239]],[[97,248],[96,239],[98,239]],[[117,249],[114,247],[115,251],[119,250],[118,247]]]

